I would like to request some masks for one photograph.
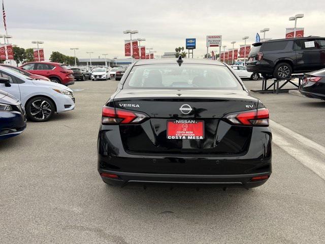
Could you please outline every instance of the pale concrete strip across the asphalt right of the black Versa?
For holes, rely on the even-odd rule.
[[[325,147],[271,121],[273,142],[325,180]]]

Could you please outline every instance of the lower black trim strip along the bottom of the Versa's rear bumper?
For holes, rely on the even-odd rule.
[[[186,185],[212,185],[212,186],[239,186],[253,188],[263,185],[268,179],[252,181],[252,177],[271,175],[271,172],[258,174],[238,174],[238,175],[188,175],[188,174],[147,174],[128,173],[108,170],[99,170],[99,173],[109,173],[118,175],[117,179],[103,177],[107,184],[123,187],[127,184],[186,184]]]

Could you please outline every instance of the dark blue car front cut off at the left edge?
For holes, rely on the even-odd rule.
[[[0,140],[17,136],[25,129],[25,110],[20,101],[0,90]]]

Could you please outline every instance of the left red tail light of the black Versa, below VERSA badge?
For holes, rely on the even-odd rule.
[[[102,124],[136,124],[143,121],[147,116],[143,113],[128,111],[124,109],[115,109],[103,107]]]

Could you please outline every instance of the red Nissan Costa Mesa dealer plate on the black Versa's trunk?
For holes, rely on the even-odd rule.
[[[167,121],[167,139],[204,139],[204,121],[169,120]]]

